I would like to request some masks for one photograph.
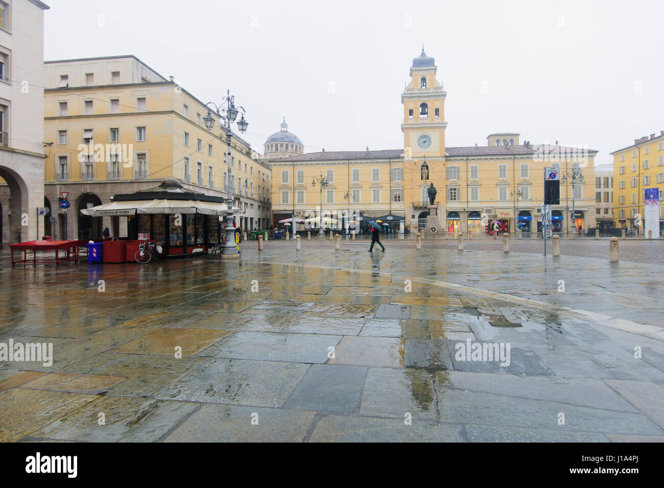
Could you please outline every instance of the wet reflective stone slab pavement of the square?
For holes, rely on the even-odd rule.
[[[3,262],[0,441],[664,441],[661,264],[366,244]]]

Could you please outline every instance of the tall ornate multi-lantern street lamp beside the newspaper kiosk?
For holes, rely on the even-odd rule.
[[[208,102],[205,104],[205,106],[208,108],[208,113],[207,116],[203,118],[203,122],[205,122],[205,127],[207,127],[208,131],[212,131],[214,128],[214,117],[212,117],[212,114],[210,114],[210,108],[208,106],[213,106],[214,111],[216,112],[217,116],[219,117],[219,127],[222,130],[226,131],[226,145],[228,146],[227,152],[226,152],[226,163],[228,163],[228,169],[226,171],[227,176],[226,176],[226,206],[228,207],[228,210],[226,210],[226,229],[224,232],[226,232],[226,242],[224,243],[224,246],[222,247],[222,252],[221,252],[221,257],[225,259],[229,258],[238,258],[240,255],[238,254],[237,251],[237,246],[235,244],[235,228],[233,227],[233,220],[234,220],[234,210],[232,210],[233,207],[233,188],[231,185],[231,167],[230,167],[230,142],[232,139],[232,130],[231,130],[231,124],[235,122],[237,116],[238,116],[238,109],[235,108],[235,97],[230,95],[230,90],[226,90],[226,96],[222,97],[222,102],[221,106],[217,106],[213,102]],[[226,107],[223,105],[226,104]],[[242,116],[240,117],[240,120],[238,120],[238,129],[240,132],[244,132],[247,129],[247,126],[249,125],[246,120],[244,120],[244,114],[245,110],[243,107],[240,106],[240,109],[242,110]],[[224,114],[224,115],[222,115]],[[219,136],[221,139],[221,136]],[[233,238],[231,239],[231,236]]]

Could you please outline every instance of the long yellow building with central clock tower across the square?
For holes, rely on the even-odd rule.
[[[306,218],[322,212],[335,216],[339,227],[347,227],[359,215],[391,215],[394,220],[404,218],[410,232],[486,232],[497,221],[501,232],[521,229],[533,234],[541,225],[544,168],[571,174],[575,167],[582,171],[583,181],[574,181],[573,190],[571,177],[561,183],[560,204],[552,207],[554,232],[568,235],[578,226],[594,229],[597,151],[557,141],[522,144],[520,134],[511,132],[489,135],[486,146],[447,147],[447,92],[436,79],[437,70],[424,49],[413,60],[402,93],[402,149],[323,150],[274,159],[266,153],[275,178],[273,221],[291,213]],[[322,195],[321,178],[327,180]],[[434,211],[428,199],[432,184],[436,218],[427,220]]]

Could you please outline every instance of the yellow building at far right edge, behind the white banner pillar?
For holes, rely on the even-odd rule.
[[[659,234],[664,234],[664,131],[634,139],[634,143],[611,153],[614,157],[614,225],[635,230],[641,216],[643,231],[644,190],[659,192]]]

